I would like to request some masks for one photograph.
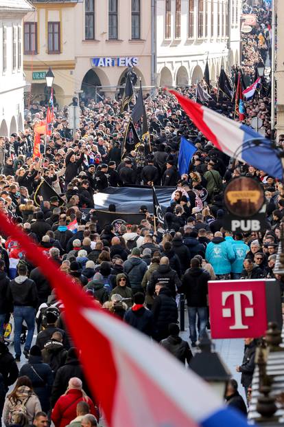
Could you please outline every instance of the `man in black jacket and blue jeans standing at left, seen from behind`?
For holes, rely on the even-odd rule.
[[[17,267],[18,274],[14,280],[9,283],[7,298],[9,303],[14,305],[14,349],[16,353],[16,361],[21,358],[21,332],[23,320],[27,324],[27,339],[23,353],[26,358],[29,357],[29,349],[32,345],[34,337],[35,324],[35,308],[38,305],[38,292],[36,283],[27,278],[27,267],[21,263]]]

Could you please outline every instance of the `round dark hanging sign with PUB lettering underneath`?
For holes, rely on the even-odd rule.
[[[239,177],[228,183],[224,204],[229,214],[224,228],[233,232],[261,231],[265,227],[265,199],[261,184],[250,177]]]

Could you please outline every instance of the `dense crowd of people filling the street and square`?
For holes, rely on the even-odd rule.
[[[257,15],[257,27],[243,40],[242,65],[253,76],[255,65],[269,54],[271,13],[268,7],[247,10],[246,3],[244,10]],[[194,87],[179,90],[190,97],[195,91]],[[233,119],[231,100],[217,97],[214,88],[211,95],[209,107]],[[45,155],[39,158],[33,157],[34,127],[45,119],[47,107],[34,102],[26,114],[25,131],[10,138],[0,136],[0,208],[74,286],[82,287],[102,309],[160,342],[185,365],[190,364],[192,349],[210,328],[210,280],[276,278],[282,288],[281,277],[273,270],[284,215],[284,188],[264,171],[235,162],[215,149],[174,96],[157,90],[154,97],[145,97],[145,107],[150,140],[123,159],[121,144],[130,112],[120,113],[120,102],[110,98],[80,102],[80,129],[74,135],[68,128],[67,109],[55,109],[53,131],[47,137]],[[246,124],[253,117],[262,118],[268,138],[270,109],[269,94],[246,102]],[[177,162],[182,135],[197,151],[188,173],[180,176]],[[283,142],[279,138],[279,144]],[[44,143],[42,140],[42,152]],[[265,190],[263,232],[233,233],[224,228],[224,188],[240,175],[254,177]],[[37,195],[43,178],[54,190],[49,200]],[[108,186],[130,184],[176,188],[165,212],[167,229],[156,232],[161,223],[154,223],[143,201],[141,223],[121,223],[115,229],[112,223],[99,222],[94,194]],[[78,223],[75,232],[69,227],[73,221]],[[52,420],[56,427],[96,426],[101,415],[99,402],[88,390],[78,349],[64,325],[64,307],[44,272],[29,262],[19,244],[3,234],[0,243],[3,424],[43,427]],[[177,302],[181,293],[187,301],[190,345],[179,336]],[[7,336],[13,337],[14,355]],[[256,341],[247,339],[245,344],[244,361],[237,372],[249,394]],[[228,384],[226,400],[246,413],[235,380]]]

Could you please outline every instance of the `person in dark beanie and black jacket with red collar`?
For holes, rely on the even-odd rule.
[[[153,333],[153,314],[152,311],[145,308],[145,296],[142,292],[137,292],[133,297],[134,305],[126,311],[124,320],[128,325],[152,336]]]

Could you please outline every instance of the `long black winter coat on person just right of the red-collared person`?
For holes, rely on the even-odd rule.
[[[169,336],[169,324],[178,321],[178,307],[169,288],[162,287],[158,296],[154,298],[152,314],[154,321],[153,338],[161,341]]]

